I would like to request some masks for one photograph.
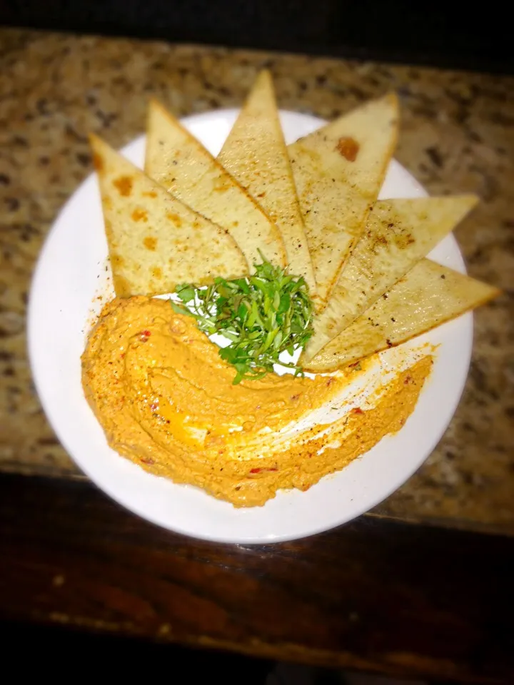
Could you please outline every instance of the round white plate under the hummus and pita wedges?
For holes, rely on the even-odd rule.
[[[183,123],[216,154],[236,114],[214,111]],[[293,112],[282,112],[281,118],[288,142],[323,123]],[[142,165],[143,150],[141,136],[124,153]],[[425,194],[400,164],[390,164],[382,198]],[[234,509],[200,489],[149,475],[108,447],[81,387],[80,356],[106,256],[99,191],[96,178],[90,176],[59,214],[34,273],[28,323],[31,367],[46,416],[76,464],[117,502],[158,525],[193,537],[244,543],[295,539],[333,528],[371,509],[408,480],[455,412],[470,362],[470,314],[423,336],[440,347],[430,379],[403,429],[307,492],[278,492],[264,507]],[[430,256],[465,270],[451,235]]]

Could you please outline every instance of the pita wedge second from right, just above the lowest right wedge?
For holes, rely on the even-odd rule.
[[[378,201],[303,352],[308,362],[378,300],[476,205],[475,196]]]

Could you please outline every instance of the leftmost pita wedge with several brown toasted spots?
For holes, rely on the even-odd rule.
[[[248,273],[226,230],[166,193],[107,143],[91,136],[114,289],[119,297],[171,293]]]

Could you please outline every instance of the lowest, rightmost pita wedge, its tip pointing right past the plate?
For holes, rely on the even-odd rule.
[[[305,365],[328,372],[457,318],[500,290],[423,259]]]

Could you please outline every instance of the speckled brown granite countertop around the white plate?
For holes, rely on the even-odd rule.
[[[458,227],[471,275],[505,290],[475,315],[473,363],[448,431],[377,509],[514,534],[514,78],[159,42],[0,30],[0,470],[78,476],[42,413],[26,358],[31,273],[61,205],[91,172],[87,133],[141,133],[146,102],[239,106],[259,68],[282,108],[333,118],[391,88],[397,151],[430,193],[477,193]],[[65,398],[64,398],[65,401]]]

